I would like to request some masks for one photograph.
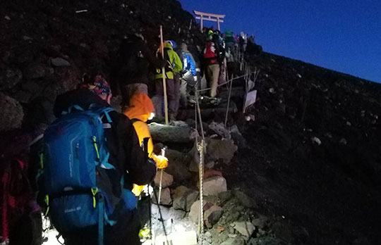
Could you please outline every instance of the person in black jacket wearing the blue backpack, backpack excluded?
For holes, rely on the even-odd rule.
[[[111,90],[106,81],[99,80],[95,84],[85,85],[57,96],[54,104],[54,115],[59,118],[70,106],[82,108],[109,106]],[[156,174],[156,165],[148,160],[147,153],[140,147],[138,136],[131,121],[121,113],[111,111],[111,127],[104,129],[107,149],[110,153],[109,163],[114,165],[119,176],[111,179],[116,195],[121,191],[121,176],[124,177],[124,188],[133,189],[133,184],[150,184]],[[118,188],[119,187],[119,188]],[[114,226],[104,227],[104,244],[140,244],[138,232],[140,220],[136,210],[123,212]],[[70,234],[63,234],[65,244],[97,244],[97,226],[86,227]]]

